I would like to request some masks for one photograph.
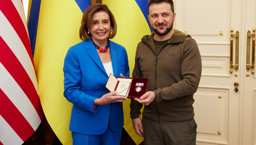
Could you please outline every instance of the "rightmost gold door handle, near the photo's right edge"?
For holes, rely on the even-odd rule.
[[[248,30],[247,32],[247,53],[246,53],[246,71],[250,69],[252,74],[254,74],[254,64],[255,64],[255,28],[252,29],[253,33]],[[252,65],[250,65],[250,47],[251,47],[251,37],[252,37]]]

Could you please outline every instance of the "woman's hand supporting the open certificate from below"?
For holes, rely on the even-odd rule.
[[[113,96],[117,93],[117,91],[112,91],[110,93],[107,93],[103,95],[101,98],[97,98],[94,101],[95,105],[105,105],[109,103],[114,103],[114,102],[123,102],[124,100],[128,99],[127,97],[124,96]]]

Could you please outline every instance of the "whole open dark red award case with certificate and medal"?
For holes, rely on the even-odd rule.
[[[116,95],[126,96],[127,98],[140,98],[147,92],[148,78],[140,77],[114,77],[110,74],[109,79],[106,83],[106,88],[110,92],[117,91]]]

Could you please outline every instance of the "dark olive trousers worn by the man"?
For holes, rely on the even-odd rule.
[[[142,118],[144,145],[196,145],[196,121],[157,123]]]

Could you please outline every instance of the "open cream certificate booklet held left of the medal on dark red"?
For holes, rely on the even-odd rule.
[[[112,92],[112,91],[117,91],[115,94],[118,96],[126,96],[128,95],[128,91],[130,88],[131,84],[131,77],[115,77],[113,74],[109,75],[109,79],[106,83],[106,88]]]

